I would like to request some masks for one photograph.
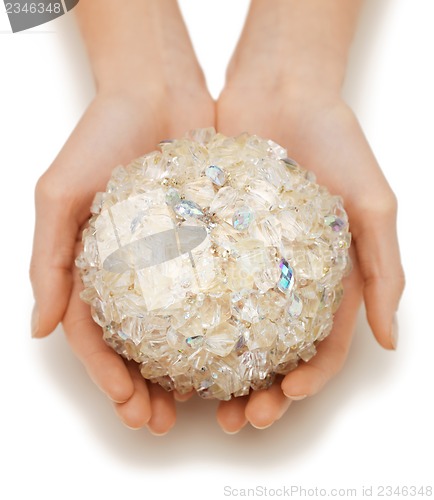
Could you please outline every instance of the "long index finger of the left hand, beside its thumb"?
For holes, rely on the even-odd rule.
[[[84,364],[95,384],[115,402],[125,402],[134,392],[131,375],[123,359],[103,340],[101,328],[93,321],[89,306],[79,297],[82,286],[78,272],[63,326],[71,349]]]

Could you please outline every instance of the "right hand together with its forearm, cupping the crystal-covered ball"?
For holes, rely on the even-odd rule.
[[[378,342],[396,348],[396,310],[404,287],[397,203],[356,117],[340,97],[349,25],[356,18],[356,8],[341,3],[254,0],[217,103],[218,130],[273,139],[315,172],[319,183],[340,194],[353,236],[353,271],[345,279],[332,333],[318,346],[318,354],[280,385],[222,403],[218,420],[229,432],[247,422],[259,428],[271,425],[291,401],[315,394],[339,371],[362,294]],[[332,40],[327,39],[329,32]]]

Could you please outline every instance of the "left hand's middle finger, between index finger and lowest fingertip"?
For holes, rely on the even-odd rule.
[[[127,368],[134,384],[133,395],[125,403],[115,403],[116,414],[131,429],[140,429],[151,418],[151,400],[145,379],[137,363],[130,361]]]

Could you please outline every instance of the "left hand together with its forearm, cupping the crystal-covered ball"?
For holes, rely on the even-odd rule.
[[[213,125],[214,102],[176,2],[132,0],[128,9],[123,2],[117,9],[113,8],[115,4],[111,2],[110,8],[100,0],[83,0],[77,6],[96,75],[97,95],[36,187],[30,269],[36,302],[32,330],[35,337],[44,337],[62,322],[72,350],[113,401],[119,418],[129,427],[147,425],[151,432],[164,434],[175,422],[173,395],[146,383],[138,365],[125,362],[105,344],[88,305],[79,298],[82,286],[74,259],[92,199],[97,191],[105,190],[112,169],[154,150],[162,139]],[[122,20],[127,14],[130,18]],[[117,49],[110,46],[113,38],[122,34],[122,22],[128,30],[134,30],[138,23],[140,31],[131,39],[130,50],[121,51],[117,59],[116,50],[122,44],[127,50],[129,43],[127,36],[126,40],[117,40]],[[148,30],[147,22],[152,25]],[[107,35],[111,23],[112,30],[116,28],[113,37]],[[102,33],[96,36],[95,30]],[[175,31],[177,45],[166,47],[165,38]],[[149,59],[143,47],[140,57],[135,57],[143,33],[154,52]],[[107,52],[110,59],[105,58]]]

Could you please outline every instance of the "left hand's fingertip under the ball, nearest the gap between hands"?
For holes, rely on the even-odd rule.
[[[167,434],[175,425],[175,400],[172,393],[165,391],[158,384],[148,382],[148,390],[152,411],[152,416],[148,422],[148,429],[152,434],[162,436]]]

